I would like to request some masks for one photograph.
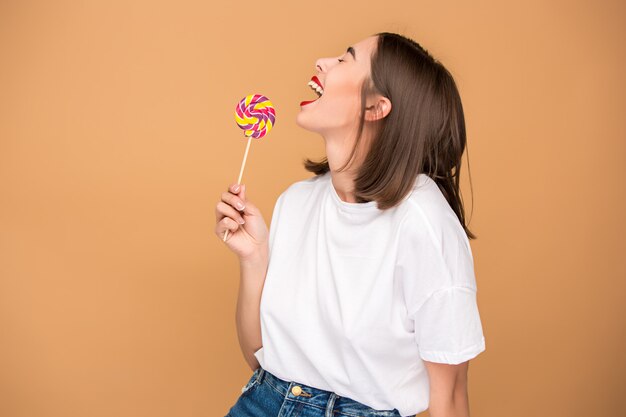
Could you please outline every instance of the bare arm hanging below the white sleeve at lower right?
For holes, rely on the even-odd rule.
[[[469,417],[467,369],[458,365],[424,361],[430,382],[430,417]]]

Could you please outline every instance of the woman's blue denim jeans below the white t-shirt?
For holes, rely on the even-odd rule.
[[[226,417],[401,417],[332,391],[285,381],[258,367]]]

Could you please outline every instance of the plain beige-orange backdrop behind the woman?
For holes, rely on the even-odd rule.
[[[487,350],[472,416],[625,415],[622,1],[0,2],[0,415],[223,416],[251,373],[214,208],[307,178],[320,56],[379,31],[456,77]],[[469,175],[471,174],[471,184]],[[473,193],[473,194],[472,194]]]

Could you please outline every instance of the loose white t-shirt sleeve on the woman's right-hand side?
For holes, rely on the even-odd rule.
[[[467,237],[454,219],[408,220],[398,272],[419,355],[454,365],[472,359],[485,350],[485,338]]]

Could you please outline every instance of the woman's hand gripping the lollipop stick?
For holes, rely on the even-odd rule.
[[[268,230],[259,209],[246,199],[246,186],[232,184],[215,208],[215,234],[228,230],[226,245],[240,260],[267,256]]]

